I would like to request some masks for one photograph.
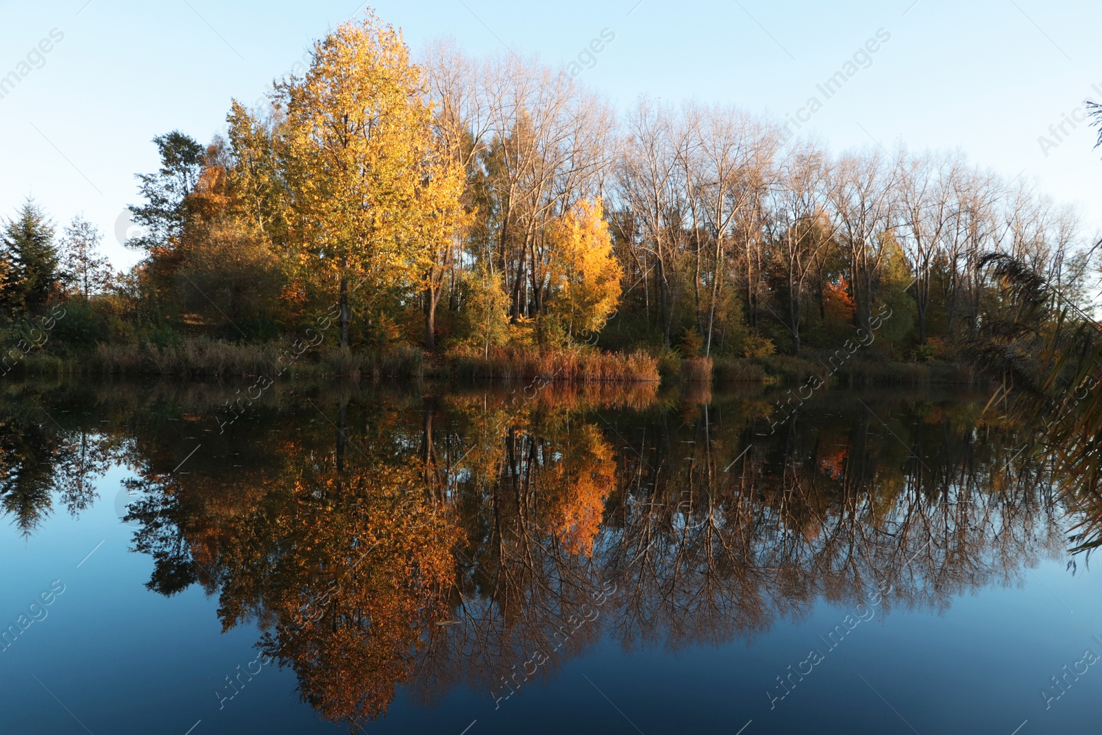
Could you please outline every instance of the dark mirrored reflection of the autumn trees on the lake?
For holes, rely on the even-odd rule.
[[[127,522],[324,717],[398,688],[488,707],[603,636],[750,640],[817,601],[941,610],[1066,548],[1049,468],[985,394],[276,387],[225,432],[219,386],[9,388],[0,502],[20,532],[125,464]],[[885,591],[880,594],[878,591]]]

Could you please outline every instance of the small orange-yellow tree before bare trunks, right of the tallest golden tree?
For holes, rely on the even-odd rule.
[[[619,304],[623,277],[601,199],[579,202],[552,223],[549,239],[548,313],[562,320],[572,337],[599,332]]]

